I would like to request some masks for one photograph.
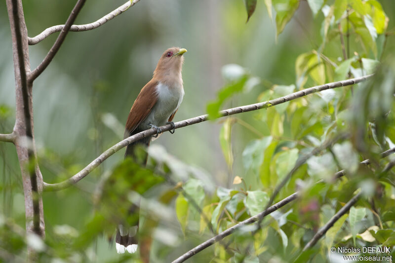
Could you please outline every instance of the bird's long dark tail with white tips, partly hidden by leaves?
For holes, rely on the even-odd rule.
[[[132,133],[129,133],[128,131],[125,131],[125,134],[123,137],[125,139],[129,136],[132,136],[132,135],[138,133],[138,132],[139,131],[134,131]],[[150,142],[151,142],[151,137],[148,137],[148,138],[144,138],[143,140],[129,144],[126,147],[125,158],[131,157],[135,161],[137,161],[137,156],[135,154],[136,153],[135,148],[139,145],[148,147],[150,145]],[[144,157],[144,160],[143,160],[144,165],[147,164],[147,159],[148,159],[148,154]],[[133,176],[133,175],[130,175],[130,176]],[[139,210],[140,210],[139,206],[140,206],[140,204],[137,204],[137,205],[133,204],[132,207],[130,208],[130,213],[138,214]],[[137,222],[133,222],[133,225],[130,227],[128,227],[126,225],[118,225],[117,234],[115,237],[116,249],[117,249],[118,254],[123,254],[125,252],[135,253],[137,251],[138,232],[139,232],[138,230],[139,230],[138,219],[137,219]]]

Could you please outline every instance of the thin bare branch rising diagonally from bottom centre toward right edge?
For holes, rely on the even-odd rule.
[[[390,155],[390,154],[392,154],[394,152],[395,152],[395,148],[392,148],[390,150],[386,150],[383,153],[381,153],[381,157],[384,158],[384,157],[386,157],[386,156],[388,156],[388,155]],[[359,165],[362,165],[362,164],[363,165],[367,165],[369,163],[370,163],[370,160],[366,159],[364,161],[361,161],[359,163]],[[344,176],[345,174],[346,173],[345,173],[344,170],[339,171],[339,172],[335,173],[334,178],[336,178],[336,179],[340,178],[340,177]],[[317,183],[321,183],[321,181],[318,181]],[[294,192],[293,194],[291,194],[291,195],[285,197],[284,199],[282,199],[281,201],[277,202],[275,205],[272,205],[271,207],[265,209],[263,212],[259,213],[258,215],[253,216],[251,218],[248,218],[248,219],[238,223],[237,225],[234,225],[234,226],[226,229],[225,231],[219,233],[218,235],[208,239],[207,241],[204,241],[200,245],[196,246],[195,248],[191,249],[190,251],[188,251],[184,255],[180,256],[178,259],[174,260],[172,263],[182,263],[182,262],[186,261],[187,259],[191,258],[192,256],[194,256],[195,254],[199,253],[200,251],[208,248],[209,246],[213,245],[214,243],[216,243],[216,242],[222,240],[223,238],[227,237],[228,235],[232,234],[233,232],[235,232],[241,226],[249,225],[249,224],[252,224],[254,222],[261,221],[267,215],[273,213],[274,211],[278,210],[279,208],[283,207],[284,205],[286,205],[286,204],[292,202],[293,200],[295,200],[296,198],[298,198],[299,194],[300,194],[299,191]],[[359,196],[357,196],[356,198],[358,198],[358,197]],[[339,212],[340,212],[340,210],[339,210]]]

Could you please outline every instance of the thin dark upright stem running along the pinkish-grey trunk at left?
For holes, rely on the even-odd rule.
[[[14,29],[15,29],[15,38],[16,38],[16,47],[18,52],[18,70],[21,77],[21,89],[22,89],[22,98],[24,105],[24,123],[26,129],[26,137],[33,141],[33,130],[32,130],[32,116],[30,114],[31,105],[29,103],[29,91],[28,91],[28,82],[27,82],[27,73],[26,73],[26,61],[23,53],[22,46],[22,33],[21,33],[21,21],[19,17],[18,11],[18,2],[17,0],[12,0],[12,17],[14,19]],[[12,27],[11,27],[12,28]],[[33,231],[42,236],[40,228],[40,201],[39,201],[39,190],[37,184],[37,173],[36,173],[36,155],[32,148],[28,148],[28,160],[29,162],[33,162],[33,168],[27,168],[28,175],[30,177],[30,182],[32,186],[32,203],[33,203]]]

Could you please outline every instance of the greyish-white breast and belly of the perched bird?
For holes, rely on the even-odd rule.
[[[183,86],[168,87],[159,82],[156,87],[158,102],[155,104],[151,113],[143,121],[143,125],[154,124],[162,126],[166,124],[171,114],[180,106],[184,97]]]

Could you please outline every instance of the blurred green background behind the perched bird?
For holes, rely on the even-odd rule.
[[[87,1],[76,24],[90,23],[123,4],[124,1]],[[380,0],[394,28],[395,1]],[[23,1],[30,37],[45,28],[64,24],[74,1]],[[224,85],[222,67],[238,64],[261,83],[250,92],[232,98],[224,108],[257,102],[260,93],[272,84],[295,83],[295,60],[316,49],[320,43],[317,18],[307,1],[301,0],[291,22],[276,39],[276,25],[269,19],[263,1],[258,1],[248,23],[242,0],[141,0],[107,24],[87,32],[71,32],[48,69],[34,83],[35,138],[44,181],[60,182],[78,172],[103,150],[122,139],[130,107],[147,83],[159,56],[171,46],[188,49],[183,80],[185,97],[174,121],[206,113],[206,104],[216,98]],[[35,68],[57,34],[30,46],[30,64]],[[11,132],[14,123],[15,91],[10,28],[5,1],[0,2],[0,132]],[[384,57],[395,47],[388,38]],[[354,49],[352,49],[354,50]],[[325,54],[342,57],[338,45],[328,44]],[[328,55],[329,54],[329,55]],[[310,80],[305,86],[312,86]],[[238,118],[262,134],[269,129],[243,113]],[[234,170],[228,171],[221,151],[219,121],[204,122],[164,133],[152,145],[162,145],[185,163],[200,167],[214,186],[230,188],[233,177],[244,177],[241,154],[257,135],[240,125],[232,131]],[[47,231],[54,225],[71,225],[81,230],[92,213],[91,193],[100,175],[123,158],[121,150],[106,160],[77,187],[43,194]],[[0,208],[24,226],[24,200],[19,164],[13,145],[0,143]],[[185,247],[186,248],[186,247]],[[178,250],[185,251],[185,248]],[[97,243],[96,262],[117,258],[105,238]]]

